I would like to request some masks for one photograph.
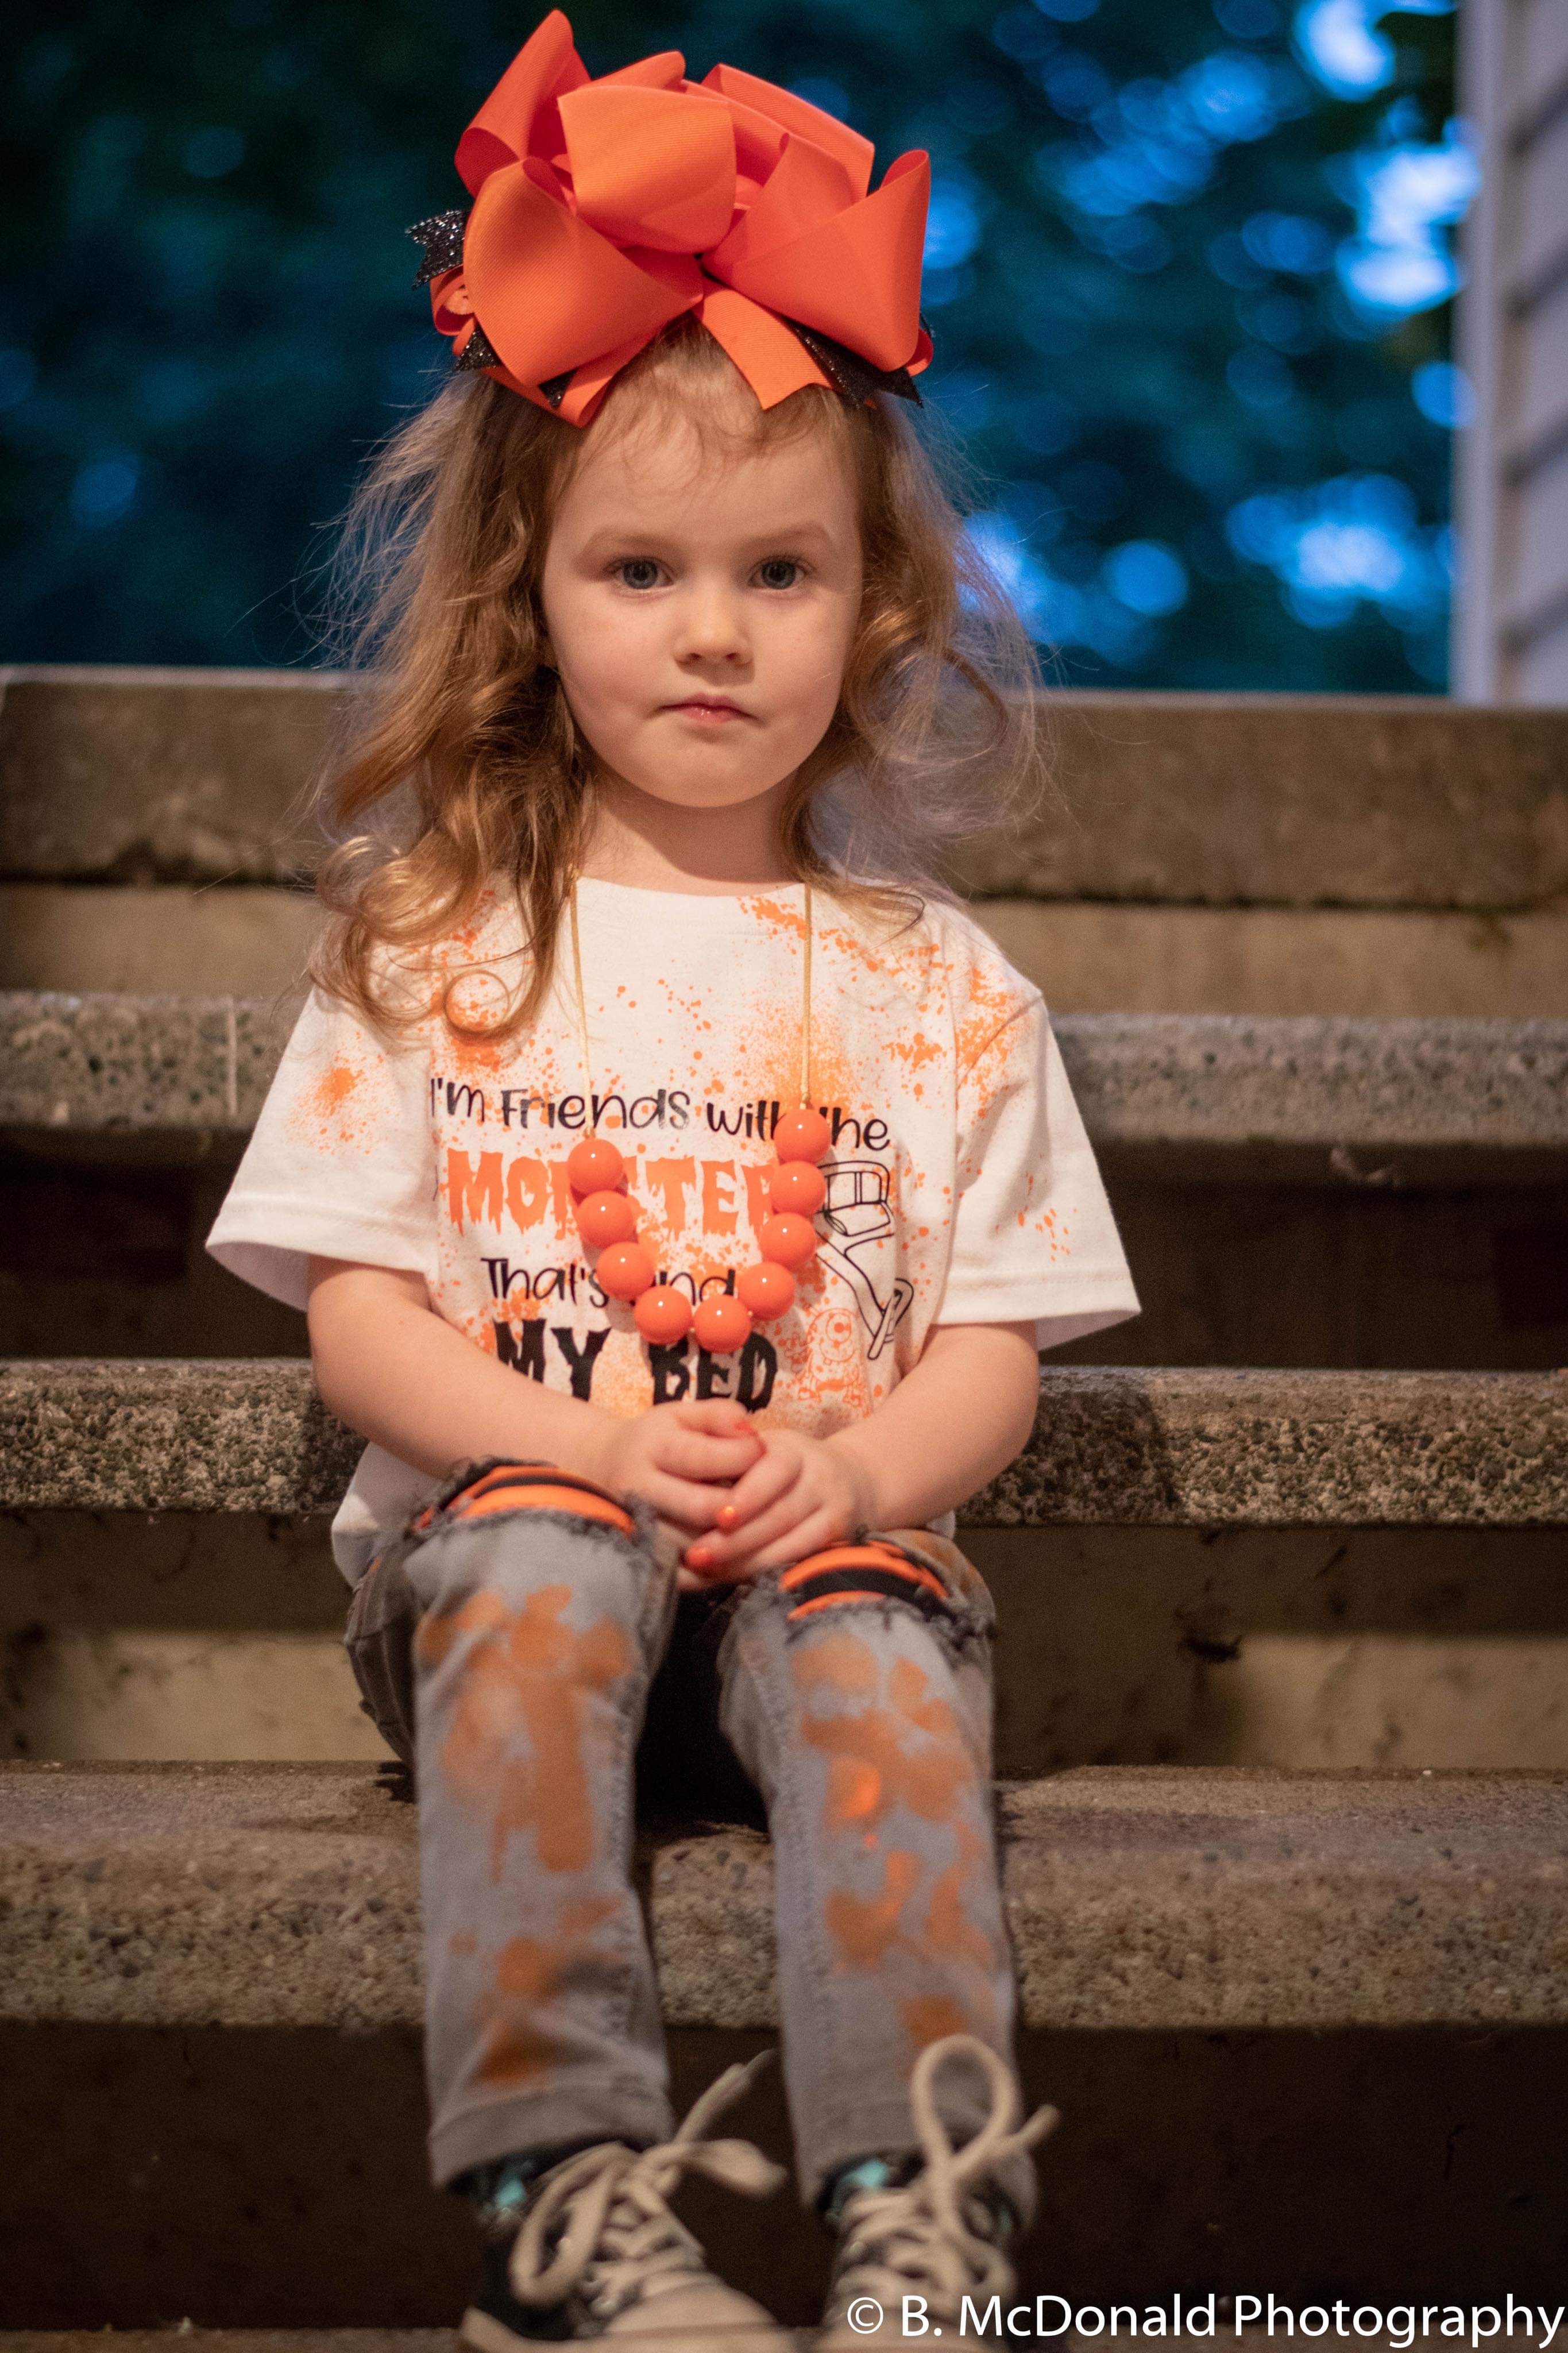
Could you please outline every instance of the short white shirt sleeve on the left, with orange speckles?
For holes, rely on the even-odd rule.
[[[303,1308],[306,1261],[435,1275],[428,1052],[310,993],[207,1235],[214,1259]]]

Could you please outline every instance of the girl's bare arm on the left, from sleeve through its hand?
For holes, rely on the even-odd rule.
[[[308,1322],[327,1409],[430,1478],[487,1454],[548,1461],[710,1527],[724,1492],[710,1482],[757,1459],[736,1405],[656,1405],[628,1421],[520,1379],[433,1311],[423,1275],[310,1259]]]

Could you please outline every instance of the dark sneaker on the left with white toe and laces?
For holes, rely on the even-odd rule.
[[[487,2245],[461,2341],[477,2353],[609,2339],[628,2353],[790,2353],[792,2339],[750,2297],[715,2278],[665,2198],[684,2172],[748,2198],[776,2191],[783,2165],[750,2141],[703,2141],[769,2054],[731,2066],[672,2141],[595,2141],[543,2172],[515,2233]]]

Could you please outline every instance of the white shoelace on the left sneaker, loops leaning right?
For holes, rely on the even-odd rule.
[[[672,2287],[686,2287],[705,2273],[703,2249],[675,2219],[665,2198],[682,2174],[708,2174],[745,2198],[766,2198],[785,2181],[750,2141],[703,2141],[701,2132],[748,2087],[771,2052],[759,2052],[745,2066],[726,2068],[675,2132],[654,2148],[628,2148],[625,2141],[597,2141],[552,2167],[522,2217],[512,2242],[510,2285],[520,2304],[559,2304],[581,2289],[599,2313],[649,2299]],[[550,2252],[555,2224],[567,2217],[559,2245]]]

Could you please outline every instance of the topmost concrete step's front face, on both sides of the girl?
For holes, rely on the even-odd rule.
[[[273,882],[341,687],[277,671],[9,671],[0,873]],[[1041,814],[961,861],[999,896],[1549,906],[1568,715],[1439,696],[1053,694]]]

